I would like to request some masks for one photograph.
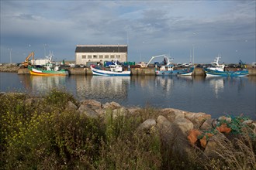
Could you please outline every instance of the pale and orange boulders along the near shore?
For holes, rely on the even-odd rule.
[[[33,104],[34,99],[25,102]],[[123,107],[116,102],[101,104],[97,100],[82,100],[77,106],[71,101],[67,102],[66,110],[76,110],[87,117],[105,117],[108,110],[112,110],[112,117],[133,116],[140,114],[140,107]],[[231,117],[221,116],[212,118],[210,114],[193,113],[185,110],[164,108],[158,110],[154,118],[145,120],[138,130],[150,134],[152,131],[161,133],[161,140],[165,145],[172,145],[174,151],[179,155],[189,156],[195,148],[202,151],[202,155],[207,158],[215,158],[220,151],[220,142],[237,137],[239,131],[234,131],[230,127],[236,125],[237,128],[247,128],[251,134],[256,136],[256,121],[238,117],[240,124],[234,124]],[[235,120],[237,121],[237,120]],[[234,132],[234,134],[232,134]]]

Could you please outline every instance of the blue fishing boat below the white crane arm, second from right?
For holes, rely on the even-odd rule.
[[[161,66],[159,70],[155,69],[155,74],[157,76],[191,76],[195,67],[192,66],[181,70],[174,70],[174,68],[175,66],[172,64]]]

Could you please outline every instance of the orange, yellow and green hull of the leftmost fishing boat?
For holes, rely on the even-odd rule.
[[[67,76],[68,71],[67,70],[59,70],[59,71],[54,71],[54,70],[38,70],[33,67],[29,67],[29,73],[31,75],[36,75],[36,76]]]

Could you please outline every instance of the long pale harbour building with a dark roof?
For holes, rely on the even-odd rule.
[[[75,64],[112,61],[127,62],[127,45],[77,45]]]

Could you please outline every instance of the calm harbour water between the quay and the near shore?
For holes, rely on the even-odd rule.
[[[256,76],[29,76],[0,73],[0,91],[43,94],[59,87],[78,100],[116,101],[126,107],[171,107],[218,117],[244,114],[256,120]]]

